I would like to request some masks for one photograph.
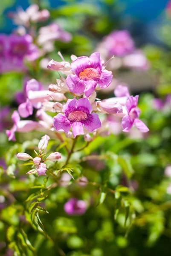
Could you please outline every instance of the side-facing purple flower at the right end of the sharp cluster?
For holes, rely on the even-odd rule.
[[[140,109],[137,108],[138,98],[138,95],[135,97],[130,96],[126,101],[125,108],[127,114],[122,118],[122,128],[125,132],[130,131],[130,128],[132,128],[133,125],[135,125],[139,131],[149,131],[148,127],[141,120],[139,120]]]

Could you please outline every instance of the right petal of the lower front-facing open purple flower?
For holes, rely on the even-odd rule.
[[[94,131],[101,127],[101,122],[97,113],[91,113],[82,123],[88,131]]]

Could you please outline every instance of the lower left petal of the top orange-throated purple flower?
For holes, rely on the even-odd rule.
[[[78,76],[68,76],[66,79],[66,83],[72,93],[79,94],[84,92],[85,83],[83,80],[80,80]]]

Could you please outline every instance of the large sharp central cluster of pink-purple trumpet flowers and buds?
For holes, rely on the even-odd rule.
[[[49,62],[49,69],[61,71],[67,76],[66,79],[58,79],[58,84],[50,84],[49,91],[42,90],[35,79],[27,81],[26,102],[19,106],[18,111],[21,117],[27,117],[32,114],[33,108],[39,108],[36,113],[39,120],[20,120],[18,112],[14,111],[14,125],[7,131],[9,140],[15,139],[15,131],[26,132],[36,129],[45,131],[52,137],[64,132],[66,137],[72,137],[72,134],[74,138],[84,135],[86,141],[91,141],[96,135],[109,134],[108,128],[112,125],[113,117],[117,117],[117,120],[122,118],[120,123],[125,132],[130,131],[133,126],[141,132],[149,131],[139,119],[139,96],[130,96],[128,87],[118,85],[114,91],[116,97],[102,101],[96,98],[96,91],[107,88],[113,78],[112,72],[105,69],[99,52],[94,52],[90,57],[77,58],[72,55],[71,59],[72,63],[64,59],[62,62]],[[66,92],[70,92],[72,99],[67,98]],[[58,114],[52,117],[46,111]],[[99,113],[102,115],[99,116]]]

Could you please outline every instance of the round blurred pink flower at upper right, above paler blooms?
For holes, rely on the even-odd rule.
[[[108,55],[125,56],[134,50],[134,42],[127,30],[113,31],[104,38]]]

